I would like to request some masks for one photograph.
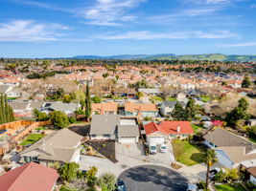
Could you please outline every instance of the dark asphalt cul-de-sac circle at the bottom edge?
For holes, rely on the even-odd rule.
[[[185,191],[188,183],[175,170],[156,165],[130,168],[119,179],[124,180],[128,191]]]

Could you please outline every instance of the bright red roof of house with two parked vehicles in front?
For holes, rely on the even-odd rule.
[[[179,132],[178,132],[179,127]],[[161,132],[166,135],[170,134],[194,134],[194,130],[189,121],[162,121],[157,124],[155,122],[144,125],[146,135],[154,132]]]

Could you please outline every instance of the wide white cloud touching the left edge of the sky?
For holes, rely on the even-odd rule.
[[[1,42],[38,42],[54,41],[61,35],[58,30],[67,30],[59,24],[41,24],[34,20],[13,20],[0,23]]]

